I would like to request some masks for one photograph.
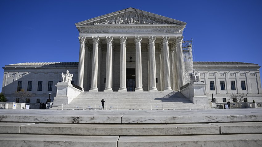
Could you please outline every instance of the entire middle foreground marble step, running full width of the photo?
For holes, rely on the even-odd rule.
[[[262,122],[209,124],[57,124],[0,122],[0,133],[120,136],[262,133]]]

